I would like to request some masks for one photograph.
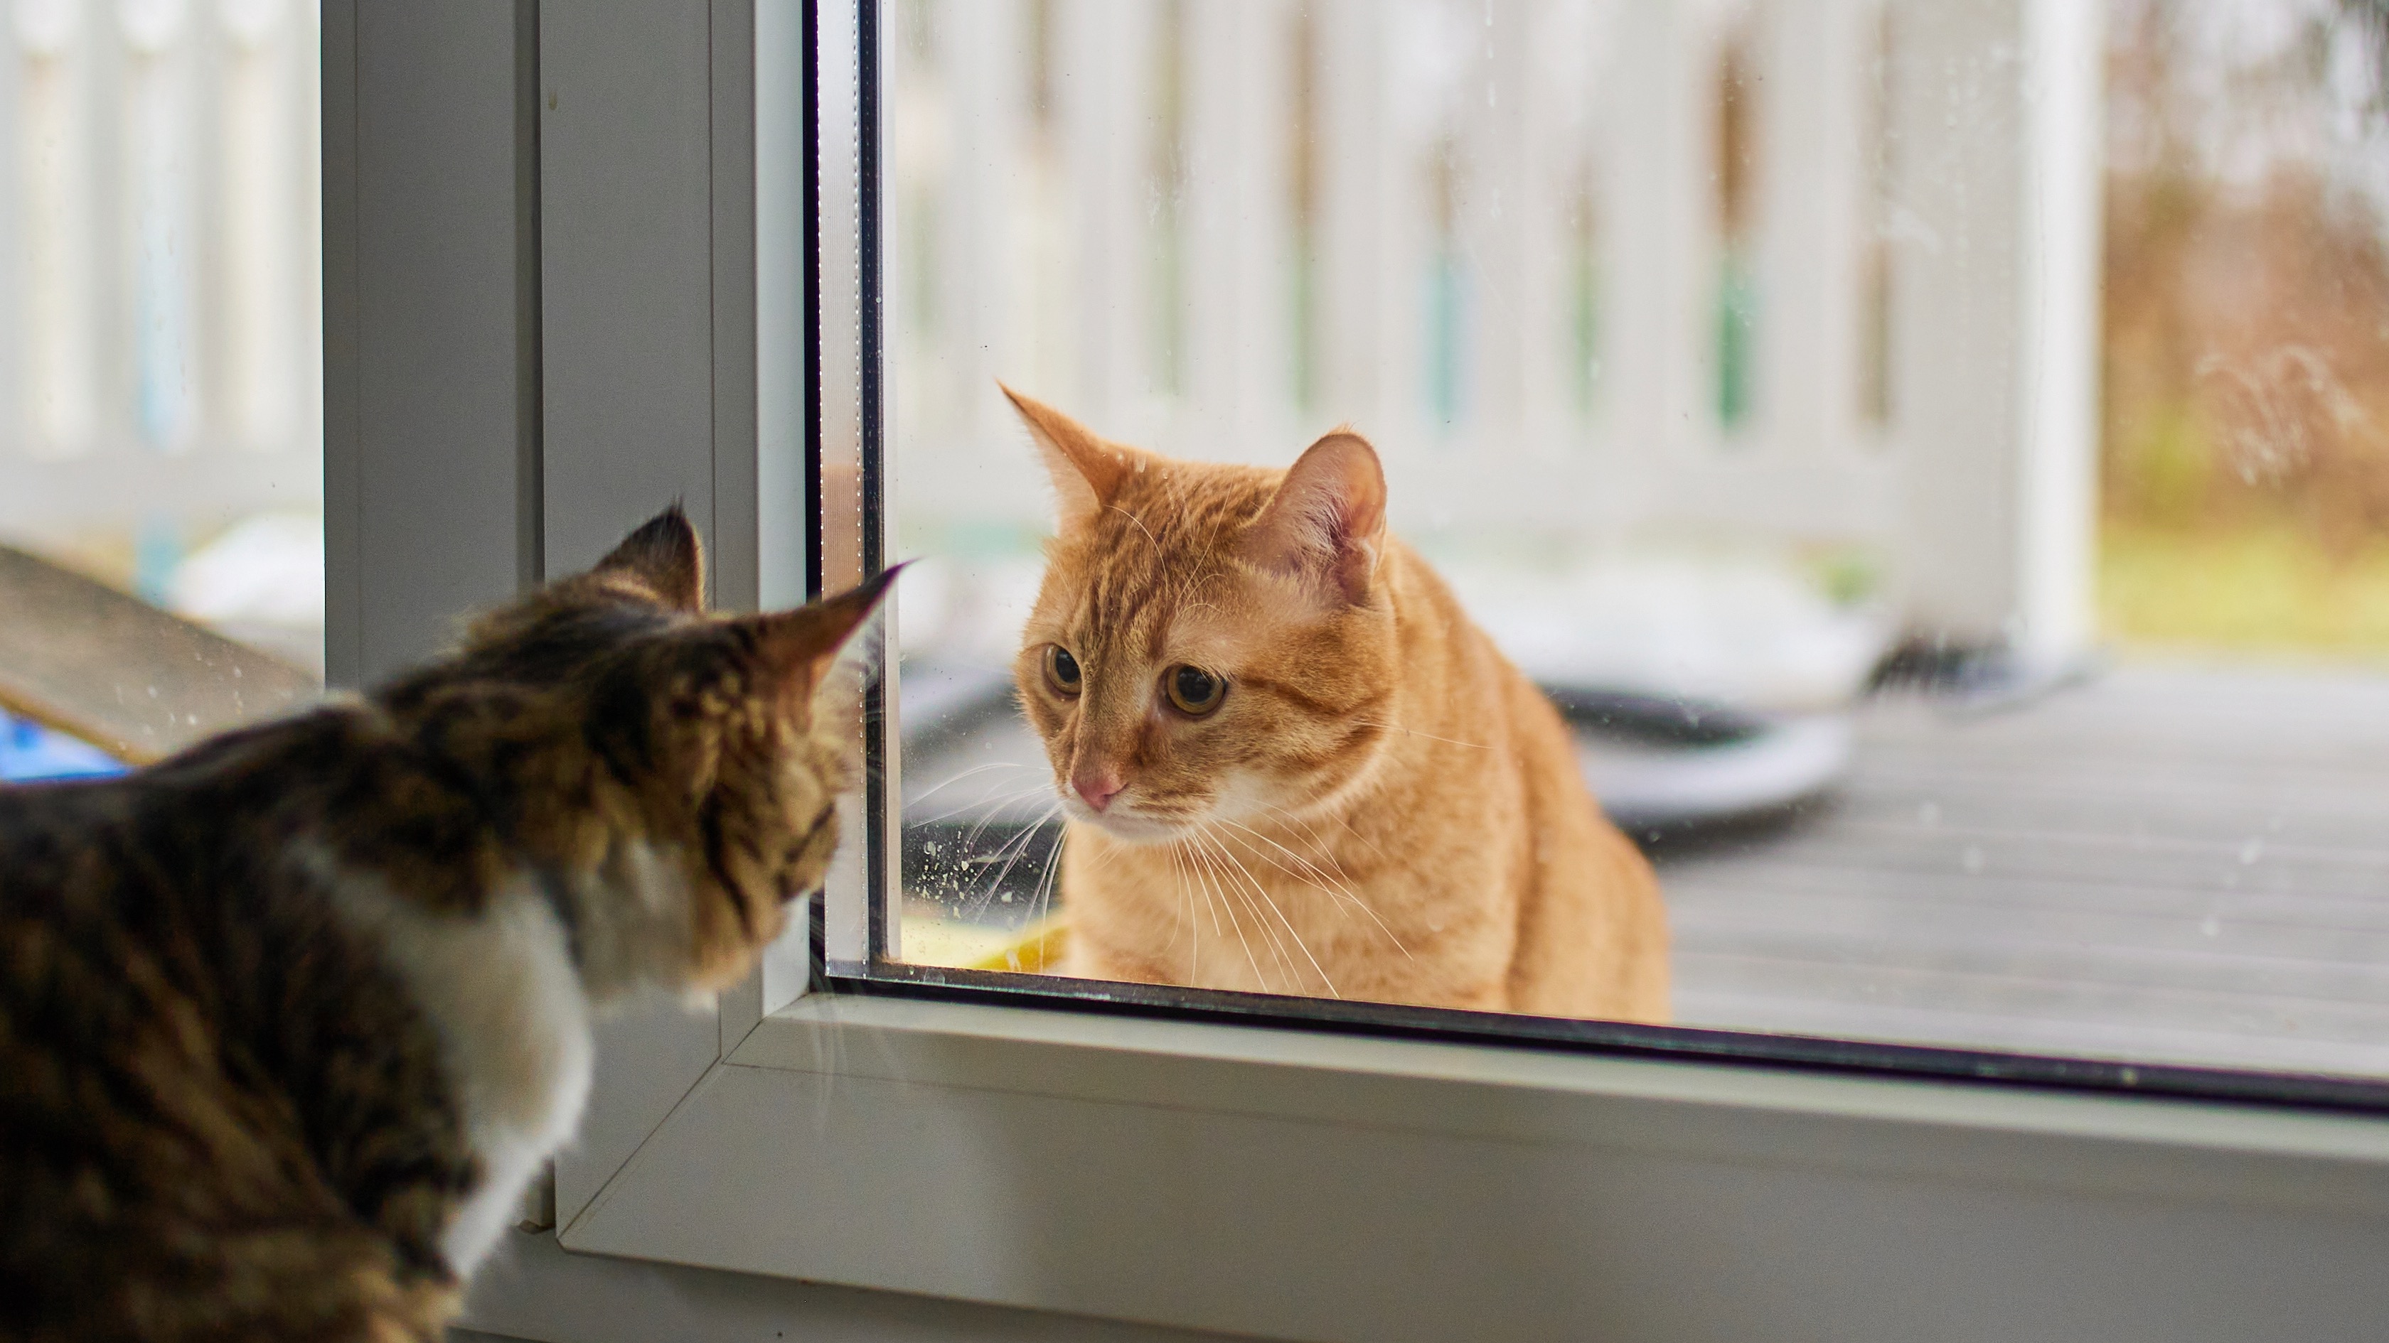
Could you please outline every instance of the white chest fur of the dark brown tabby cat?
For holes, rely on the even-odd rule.
[[[595,1040],[571,937],[528,877],[499,889],[478,918],[416,908],[370,877],[334,889],[440,1032],[483,1169],[442,1240],[449,1267],[471,1276],[588,1102]]]

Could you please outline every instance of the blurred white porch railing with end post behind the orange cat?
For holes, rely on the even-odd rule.
[[[898,516],[1037,526],[1003,378],[1395,526],[1861,542],[1904,619],[2088,633],[2098,7],[903,0]]]

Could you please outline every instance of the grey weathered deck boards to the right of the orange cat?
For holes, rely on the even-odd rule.
[[[1687,1025],[2389,1073],[2389,676],[1875,700],[1823,815],[1660,879]]]

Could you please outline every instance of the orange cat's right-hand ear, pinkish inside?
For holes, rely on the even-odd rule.
[[[1269,507],[1238,538],[1238,554],[1357,607],[1369,600],[1383,542],[1386,468],[1369,440],[1335,430],[1285,468]]]

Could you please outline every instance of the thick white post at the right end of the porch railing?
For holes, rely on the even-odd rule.
[[[1906,605],[2040,662],[2090,633],[2098,33],[2095,5],[1899,10]]]

